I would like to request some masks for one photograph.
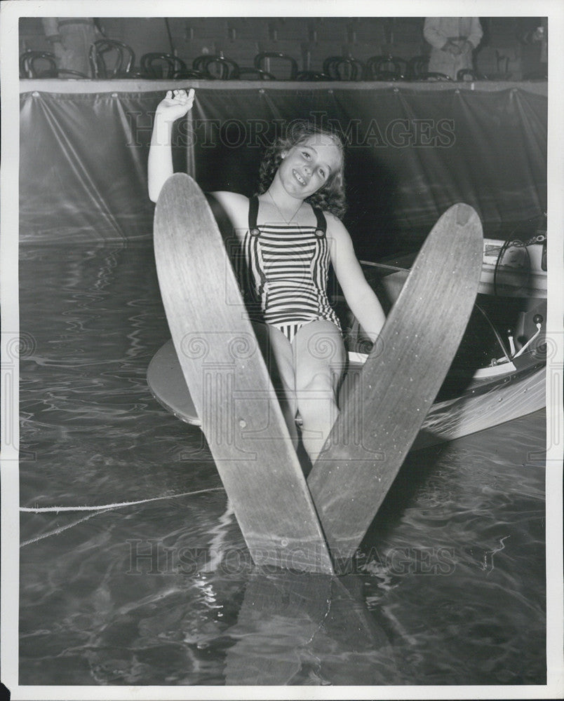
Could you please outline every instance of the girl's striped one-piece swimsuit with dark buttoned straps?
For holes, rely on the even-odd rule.
[[[325,319],[339,329],[327,296],[329,247],[327,222],[314,208],[317,226],[257,226],[258,198],[250,199],[249,228],[239,268],[250,318],[283,332],[290,343],[308,322]]]

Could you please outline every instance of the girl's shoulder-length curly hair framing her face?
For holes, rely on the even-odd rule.
[[[259,182],[257,194],[262,195],[269,189],[278,166],[282,161],[283,151],[289,151],[297,144],[303,144],[310,136],[325,135],[330,137],[341,154],[341,167],[333,171],[320,189],[305,199],[313,207],[319,207],[325,212],[331,212],[335,217],[342,219],[347,211],[347,203],[344,194],[344,147],[340,136],[333,131],[318,127],[307,121],[293,121],[286,127],[286,132],[276,139],[264,152],[259,169]]]

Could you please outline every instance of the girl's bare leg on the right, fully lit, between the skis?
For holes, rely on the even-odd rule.
[[[339,414],[337,387],[346,357],[341,332],[330,321],[312,321],[297,332],[293,350],[302,442],[314,463]]]

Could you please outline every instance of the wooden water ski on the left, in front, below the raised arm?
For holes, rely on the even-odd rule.
[[[154,246],[182,373],[254,561],[333,573],[224,241],[188,175],[163,186]]]

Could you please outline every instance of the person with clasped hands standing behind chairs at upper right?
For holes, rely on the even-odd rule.
[[[482,35],[477,17],[426,17],[423,36],[432,47],[429,72],[456,80],[460,70],[472,68],[472,52]]]

